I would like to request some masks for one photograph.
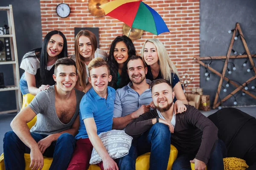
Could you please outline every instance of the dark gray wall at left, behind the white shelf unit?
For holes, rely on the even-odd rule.
[[[23,55],[42,45],[41,12],[39,0],[0,0],[0,6],[12,4],[19,64]],[[0,11],[0,26],[7,21],[6,11]],[[12,65],[0,65],[5,85],[14,85]],[[20,69],[20,76],[23,74]],[[0,111],[16,109],[15,91],[0,92]]]

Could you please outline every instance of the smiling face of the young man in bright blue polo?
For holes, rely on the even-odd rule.
[[[106,66],[92,68],[90,70],[89,82],[97,94],[102,94],[107,91],[108,82],[111,82],[112,76],[109,74]]]

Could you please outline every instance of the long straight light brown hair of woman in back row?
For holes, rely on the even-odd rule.
[[[88,37],[91,44],[92,44],[92,55],[94,58],[94,53],[97,49],[97,39],[95,34],[93,34],[91,31],[88,30],[81,30],[79,33],[76,35],[75,38],[75,55],[76,55],[76,67],[78,71],[78,77],[80,80],[80,85],[85,89],[86,88],[86,80],[87,80],[87,73],[86,73],[86,68],[85,64],[83,61],[83,56],[81,56],[79,52],[79,37],[85,36]]]

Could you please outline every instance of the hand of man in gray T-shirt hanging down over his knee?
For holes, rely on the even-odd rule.
[[[44,166],[44,157],[43,154],[41,153],[41,151],[38,149],[38,147],[36,148],[32,148],[30,150],[30,159],[31,159],[31,163],[29,165],[29,167],[32,170],[41,170]]]

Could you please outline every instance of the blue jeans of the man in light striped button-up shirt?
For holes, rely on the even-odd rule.
[[[117,160],[120,170],[135,170],[137,156],[151,152],[149,170],[166,170],[171,149],[171,132],[163,123],[154,124],[131,145],[128,155]]]

